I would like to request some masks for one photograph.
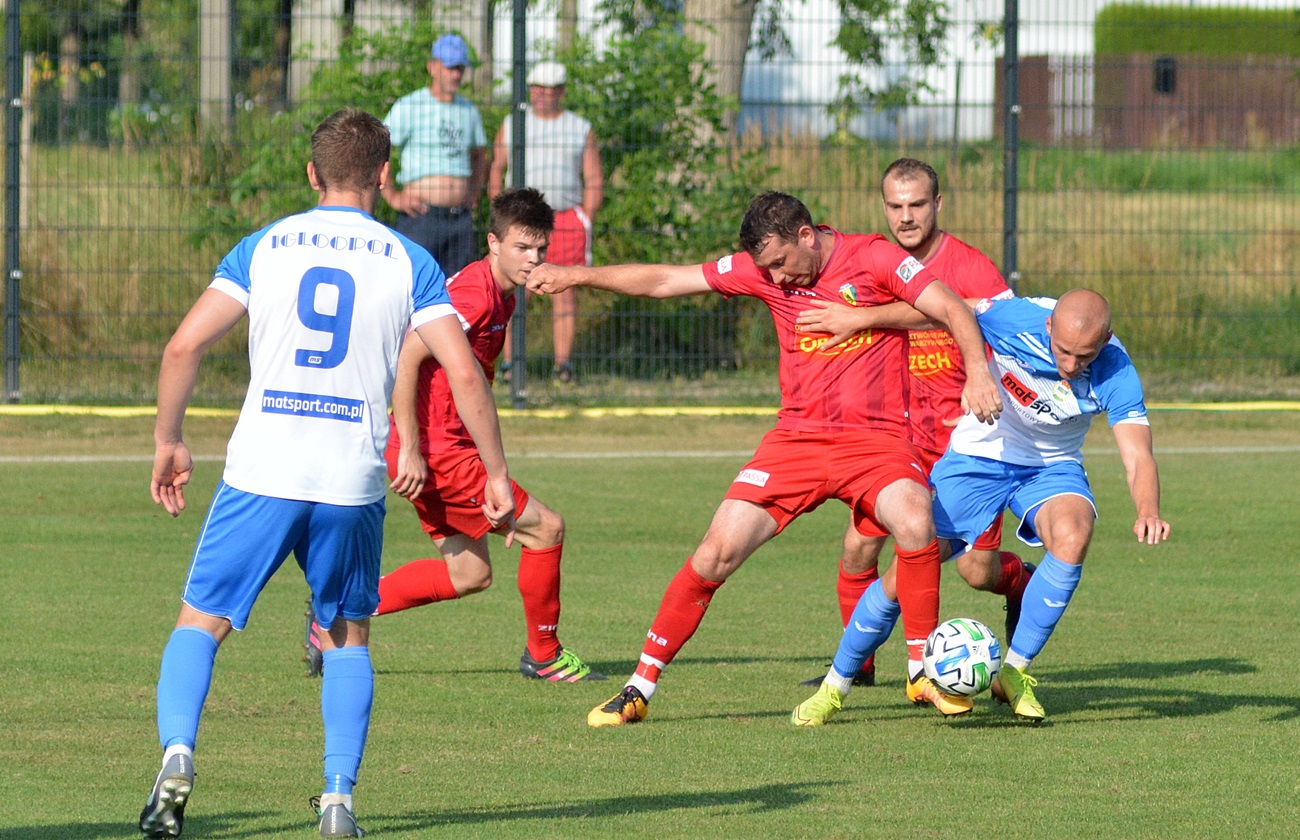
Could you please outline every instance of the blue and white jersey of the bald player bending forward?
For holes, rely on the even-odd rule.
[[[1046,330],[1054,306],[1052,298],[1010,298],[976,307],[1004,410],[992,425],[963,416],[953,451],[1022,466],[1083,462],[1083,438],[1102,411],[1112,427],[1149,424],[1138,371],[1117,338],[1078,378],[1061,378]]]

